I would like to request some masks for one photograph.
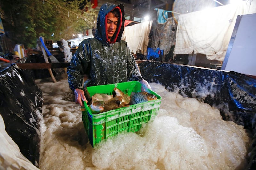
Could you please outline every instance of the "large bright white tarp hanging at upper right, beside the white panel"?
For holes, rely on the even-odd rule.
[[[246,2],[215,7],[179,16],[174,54],[205,54],[223,61],[237,15],[248,14]]]

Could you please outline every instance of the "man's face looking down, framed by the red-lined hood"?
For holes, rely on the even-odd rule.
[[[113,13],[109,12],[107,15],[107,28],[106,28],[106,32],[109,39],[114,35],[116,31],[117,22],[118,22],[118,18],[115,17]]]

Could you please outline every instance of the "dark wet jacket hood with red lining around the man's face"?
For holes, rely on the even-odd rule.
[[[107,34],[106,34],[106,16],[110,11],[113,11],[114,9],[118,8],[120,11],[120,18],[118,20],[116,32],[113,35],[113,40],[108,40]],[[124,5],[114,5],[112,3],[105,3],[101,6],[98,18],[97,18],[97,28],[95,31],[95,38],[99,41],[101,41],[104,45],[106,44],[113,44],[115,42],[120,42],[123,31],[124,31]]]

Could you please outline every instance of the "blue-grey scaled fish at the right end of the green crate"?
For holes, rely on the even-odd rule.
[[[130,105],[157,99],[157,97],[154,94],[150,94],[148,92],[137,92],[137,93],[132,92],[130,97],[131,97],[131,100],[129,103]]]

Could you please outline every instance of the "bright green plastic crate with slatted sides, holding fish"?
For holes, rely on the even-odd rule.
[[[87,87],[87,90],[91,96],[95,93],[112,95],[115,93],[113,90],[115,87],[129,96],[131,92],[141,92],[141,84],[138,81],[91,86]],[[162,98],[151,90],[150,93],[156,95],[157,99],[99,114],[92,114],[84,102],[85,109],[82,108],[82,120],[92,147],[103,139],[107,139],[121,131],[137,132],[143,123],[147,123],[151,118],[155,117]]]

